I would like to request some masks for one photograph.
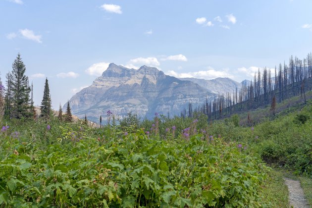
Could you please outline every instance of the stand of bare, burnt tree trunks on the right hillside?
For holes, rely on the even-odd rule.
[[[209,120],[220,119],[239,111],[255,109],[259,106],[271,104],[275,114],[275,105],[293,96],[301,95],[306,103],[306,92],[311,90],[312,84],[312,53],[306,58],[290,56],[289,63],[279,64],[272,71],[263,68],[255,72],[254,79],[242,82],[240,89],[233,93],[219,94],[213,100],[206,98],[206,102],[193,107],[188,104],[187,109],[181,111],[181,116],[191,117],[194,113],[204,113]]]

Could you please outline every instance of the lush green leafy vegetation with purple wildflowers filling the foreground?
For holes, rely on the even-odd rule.
[[[0,132],[0,204],[274,207],[280,190],[268,186],[278,189],[281,177],[262,161],[311,176],[311,116],[312,105],[255,127],[205,115],[129,113],[117,125],[109,112],[101,128],[11,119]]]

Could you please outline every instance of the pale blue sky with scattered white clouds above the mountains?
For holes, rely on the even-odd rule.
[[[17,53],[58,109],[109,63],[176,77],[251,80],[312,51],[312,0],[0,0],[0,77]]]

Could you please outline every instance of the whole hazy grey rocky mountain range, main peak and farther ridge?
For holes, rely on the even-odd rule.
[[[80,118],[99,122],[107,110],[121,117],[132,111],[141,118],[154,117],[155,113],[179,115],[191,103],[194,106],[213,100],[219,93],[240,88],[229,78],[204,80],[175,78],[155,67],[141,66],[138,70],[109,64],[91,86],[76,93],[70,100],[72,113]],[[66,109],[66,104],[63,109]]]

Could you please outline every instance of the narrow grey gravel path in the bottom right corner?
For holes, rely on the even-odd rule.
[[[289,204],[294,208],[310,208],[305,198],[300,181],[284,178],[289,191]]]

